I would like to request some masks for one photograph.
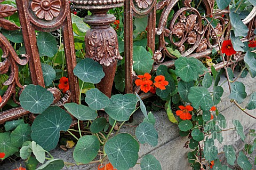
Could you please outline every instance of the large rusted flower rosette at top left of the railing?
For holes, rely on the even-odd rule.
[[[39,31],[58,29],[69,12],[66,0],[30,0],[27,5],[30,21]]]

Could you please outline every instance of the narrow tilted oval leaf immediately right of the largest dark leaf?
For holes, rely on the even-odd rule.
[[[94,120],[98,114],[95,110],[77,103],[66,103],[64,107],[78,120]]]

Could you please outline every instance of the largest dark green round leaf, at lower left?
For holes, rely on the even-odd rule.
[[[67,131],[71,116],[58,106],[47,108],[38,115],[31,126],[31,138],[45,150],[54,149],[60,138],[60,131]]]

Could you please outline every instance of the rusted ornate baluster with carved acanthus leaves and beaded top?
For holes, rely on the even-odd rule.
[[[111,97],[117,60],[121,60],[122,56],[118,51],[116,31],[110,27],[110,23],[113,23],[116,18],[114,15],[107,14],[107,11],[123,6],[123,2],[124,0],[71,1],[75,8],[92,12],[92,15],[86,16],[84,19],[91,26],[85,35],[86,57],[92,58],[102,65],[105,77],[97,84],[97,87],[109,98]]]

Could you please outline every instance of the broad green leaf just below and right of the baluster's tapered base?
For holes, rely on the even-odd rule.
[[[129,120],[132,112],[135,110],[137,97],[135,94],[116,94],[111,96],[109,106],[105,108],[107,114],[117,120]]]

